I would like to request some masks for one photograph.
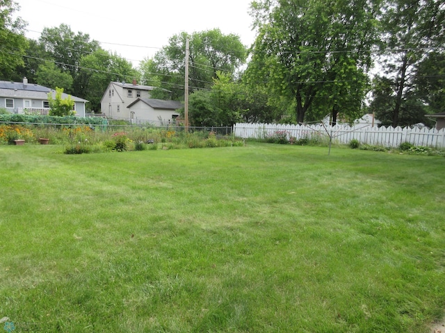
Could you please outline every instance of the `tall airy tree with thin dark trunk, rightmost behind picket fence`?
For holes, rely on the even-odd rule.
[[[418,121],[426,113],[425,108],[419,106],[421,99],[416,97],[414,83],[417,75],[425,71],[419,68],[420,64],[425,63],[431,52],[443,49],[445,4],[439,0],[386,0],[383,8],[382,68],[386,85],[391,89],[385,97],[391,108],[375,111],[381,118],[389,112],[392,126],[406,125],[407,114],[419,113],[412,119]],[[382,99],[378,93],[377,87],[374,100]]]

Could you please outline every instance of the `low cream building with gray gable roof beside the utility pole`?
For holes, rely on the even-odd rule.
[[[178,116],[178,110],[183,107],[179,101],[163,99],[136,99],[127,106],[130,121],[142,121],[154,124],[168,124]]]

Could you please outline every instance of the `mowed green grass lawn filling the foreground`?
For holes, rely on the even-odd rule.
[[[0,146],[16,332],[428,332],[444,314],[443,157],[61,151]]]

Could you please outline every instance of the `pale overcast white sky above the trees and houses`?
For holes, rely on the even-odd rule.
[[[252,0],[15,0],[16,16],[28,22],[26,37],[38,40],[44,28],[67,24],[74,33],[90,35],[102,49],[133,63],[151,58],[182,31],[220,28],[245,46],[254,42]]]

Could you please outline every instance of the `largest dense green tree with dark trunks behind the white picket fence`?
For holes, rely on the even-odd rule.
[[[349,102],[347,92],[354,91],[352,103],[359,105],[375,42],[375,7],[372,0],[252,2],[259,35],[247,71],[250,81],[293,99],[298,123],[317,95],[325,97],[334,118]]]

